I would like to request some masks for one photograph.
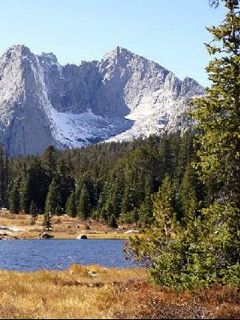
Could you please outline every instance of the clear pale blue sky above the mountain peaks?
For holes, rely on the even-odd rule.
[[[0,0],[0,54],[25,44],[80,64],[119,45],[207,85],[205,27],[223,16],[208,0]]]

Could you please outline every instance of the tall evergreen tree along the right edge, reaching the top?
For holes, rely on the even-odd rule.
[[[213,41],[207,48],[216,55],[207,68],[212,85],[196,100],[193,112],[196,167],[213,199],[203,210],[208,230],[203,247],[212,282],[231,282],[240,274],[240,10],[238,0],[223,2],[226,18],[208,29]]]

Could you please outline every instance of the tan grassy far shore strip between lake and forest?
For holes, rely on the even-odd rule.
[[[31,225],[31,217],[27,214],[11,214],[0,211],[0,238],[5,239],[40,239],[43,233],[53,235],[54,239],[78,239],[81,235],[88,239],[98,240],[128,240],[130,236],[139,234],[139,230],[133,225],[123,225],[118,229],[94,220],[83,221],[66,215],[52,218],[53,229],[43,230],[43,216],[38,216],[34,225]]]

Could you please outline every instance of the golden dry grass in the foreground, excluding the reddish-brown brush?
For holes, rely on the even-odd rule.
[[[112,318],[104,301],[114,286],[144,270],[73,265],[66,271],[0,271],[0,318]]]

